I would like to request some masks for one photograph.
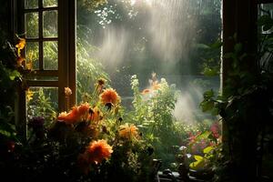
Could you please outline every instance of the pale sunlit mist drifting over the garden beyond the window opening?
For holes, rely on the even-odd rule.
[[[130,76],[137,75],[140,88],[144,89],[151,73],[156,72],[158,78],[165,77],[180,90],[174,111],[176,119],[187,123],[197,120],[202,116],[199,103],[205,87],[193,84],[204,77],[193,76],[197,73],[197,60],[192,57],[196,54],[193,46],[198,42],[198,34],[203,31],[198,19],[203,1],[108,2],[106,8],[116,7],[119,12],[113,10],[111,23],[95,31],[93,43],[98,47],[94,56],[109,74],[111,86],[127,98],[132,96]],[[98,19],[101,22],[106,17],[98,18],[102,18]],[[218,78],[212,81],[211,86],[217,91]]]

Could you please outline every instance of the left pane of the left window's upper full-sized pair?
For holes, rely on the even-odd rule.
[[[38,13],[25,14],[25,32],[27,38],[37,38],[39,33]]]

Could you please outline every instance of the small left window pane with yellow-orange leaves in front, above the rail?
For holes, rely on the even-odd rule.
[[[25,46],[26,69],[39,69],[39,43],[27,42]]]

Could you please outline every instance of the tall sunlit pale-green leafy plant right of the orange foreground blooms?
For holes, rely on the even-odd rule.
[[[136,76],[132,76],[131,85],[134,108],[128,118],[155,147],[155,155],[163,161],[163,167],[171,167],[170,164],[175,161],[174,146],[182,144],[183,138],[187,138],[186,127],[173,117],[177,89],[174,85],[169,86],[164,78],[158,82],[156,74],[153,74],[150,86],[142,92]]]

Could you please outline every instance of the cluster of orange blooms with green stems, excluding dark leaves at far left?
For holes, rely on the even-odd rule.
[[[51,128],[51,136],[58,137],[57,141],[66,146],[67,142],[76,144],[76,166],[86,176],[94,175],[94,171],[97,174],[104,171],[106,177],[115,176],[111,169],[114,167],[124,174],[130,169],[133,177],[142,167],[147,167],[141,163],[143,158],[151,157],[148,152],[151,147],[142,140],[135,125],[123,123],[126,119],[118,112],[121,98],[115,89],[105,88],[105,84],[104,79],[96,82],[90,103],[81,103],[68,112],[61,112]]]

